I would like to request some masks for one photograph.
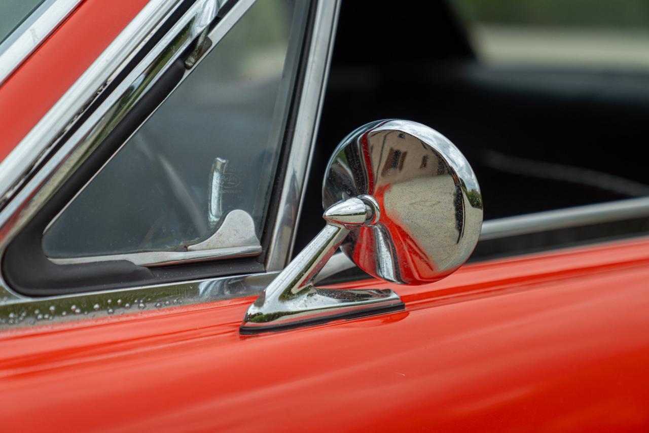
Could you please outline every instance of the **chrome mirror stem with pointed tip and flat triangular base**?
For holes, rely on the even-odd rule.
[[[327,208],[323,215],[324,229],[250,306],[241,333],[283,330],[404,308],[392,290],[334,290],[313,286],[314,278],[350,229],[374,225],[378,215],[378,204],[367,195],[339,201]]]

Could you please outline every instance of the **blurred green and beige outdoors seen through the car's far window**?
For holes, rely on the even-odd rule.
[[[494,66],[649,71],[649,0],[451,0]]]

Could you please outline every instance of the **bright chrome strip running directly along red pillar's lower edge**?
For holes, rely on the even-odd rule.
[[[181,0],[151,0],[34,128],[0,162],[0,209],[38,169],[58,139],[125,68]],[[0,224],[2,223],[0,219]]]

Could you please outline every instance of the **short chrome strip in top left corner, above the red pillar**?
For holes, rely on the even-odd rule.
[[[46,0],[0,43],[0,86],[81,3]]]

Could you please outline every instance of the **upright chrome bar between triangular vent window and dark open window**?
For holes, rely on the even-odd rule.
[[[266,256],[267,271],[284,268],[291,256],[334,47],[340,1],[320,0],[316,7],[295,132]]]

